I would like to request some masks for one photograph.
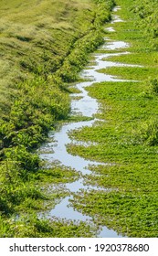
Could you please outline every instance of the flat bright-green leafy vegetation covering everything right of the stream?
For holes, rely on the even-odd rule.
[[[69,144],[68,151],[108,163],[91,166],[93,175],[87,177],[88,184],[108,190],[80,192],[72,204],[97,223],[126,236],[157,237],[157,2],[117,0],[116,3],[121,5],[117,14],[124,22],[113,24],[116,32],[109,37],[129,43],[124,51],[130,54],[109,60],[138,64],[142,68],[113,67],[100,71],[139,82],[101,82],[87,88],[90,96],[100,101],[97,116],[105,122],[70,133],[74,139],[96,144],[87,147]]]

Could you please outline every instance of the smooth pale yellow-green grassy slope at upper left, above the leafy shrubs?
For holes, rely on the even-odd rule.
[[[1,1],[0,6],[0,90],[2,103],[7,106],[9,102],[3,97],[8,94],[6,88],[13,86],[14,91],[19,80],[57,69],[73,41],[86,33],[93,15],[88,11],[89,0]]]

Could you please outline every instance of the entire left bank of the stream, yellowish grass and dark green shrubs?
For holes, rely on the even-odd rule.
[[[82,236],[83,229],[89,236],[85,224],[37,219],[44,202],[50,201],[48,207],[63,197],[47,192],[48,185],[78,174],[55,165],[43,169],[35,150],[58,121],[68,118],[68,82],[78,79],[89,53],[103,42],[101,27],[111,19],[113,2],[0,5],[0,236]]]

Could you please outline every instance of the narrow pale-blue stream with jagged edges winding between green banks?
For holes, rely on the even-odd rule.
[[[117,11],[118,8],[114,9],[114,12]],[[106,28],[107,31],[113,32],[114,28],[112,27],[112,24],[114,22],[122,22],[119,16],[113,15],[113,20],[111,22],[111,27]],[[85,189],[86,191],[90,189],[96,189],[96,190],[104,190],[105,188],[101,187],[90,187],[84,185],[84,178],[82,176],[84,175],[90,175],[91,172],[89,170],[89,165],[99,165],[100,163],[85,160],[84,158],[78,156],[78,155],[70,155],[67,152],[66,145],[67,144],[75,144],[79,142],[75,142],[74,140],[71,141],[71,139],[68,137],[68,132],[70,130],[74,130],[80,127],[84,126],[91,126],[93,125],[97,120],[94,118],[94,115],[99,111],[99,104],[96,101],[96,99],[91,98],[88,95],[88,92],[85,90],[85,87],[90,86],[94,82],[101,82],[101,81],[123,81],[118,80],[115,77],[112,77],[107,74],[99,73],[98,69],[105,69],[107,67],[113,67],[113,66],[135,66],[135,65],[125,65],[121,63],[111,62],[106,60],[110,56],[119,56],[122,54],[128,54],[126,51],[126,48],[128,48],[128,44],[121,41],[111,41],[109,38],[105,38],[105,44],[102,46],[103,49],[119,49],[124,48],[124,52],[121,53],[97,53],[94,54],[93,57],[95,59],[95,64],[93,66],[90,66],[90,69],[84,69],[82,72],[82,78],[86,79],[88,81],[79,82],[76,87],[79,89],[80,93],[78,94],[72,94],[72,101],[71,101],[71,112],[73,115],[82,114],[83,116],[87,117],[93,117],[90,121],[85,122],[75,122],[75,123],[68,123],[64,124],[61,129],[56,132],[52,133],[50,137],[53,138],[52,143],[44,144],[41,147],[41,150],[44,152],[41,154],[41,158],[47,160],[47,162],[53,163],[58,162],[60,165],[65,165],[68,167],[71,167],[75,169],[76,171],[79,171],[80,177],[77,181],[66,184],[66,188],[69,190],[70,194],[75,192],[79,192],[80,189]],[[75,96],[79,97],[75,99]],[[83,144],[80,142],[80,144]],[[47,152],[48,149],[48,153]],[[50,152],[50,150],[52,152]],[[103,164],[101,164],[103,165]],[[105,164],[104,164],[105,165]],[[48,216],[52,218],[59,218],[59,219],[70,219],[70,220],[82,220],[87,222],[92,222],[92,219],[90,216],[86,216],[72,208],[71,206],[68,206],[69,202],[68,200],[73,197],[65,197],[56,205],[55,208],[53,208],[49,213]],[[119,238],[121,237],[119,234],[117,234],[114,230],[108,229],[107,227],[101,227],[100,234],[98,237],[104,237],[104,238]]]

